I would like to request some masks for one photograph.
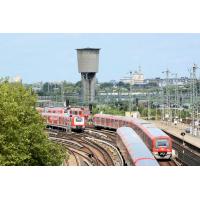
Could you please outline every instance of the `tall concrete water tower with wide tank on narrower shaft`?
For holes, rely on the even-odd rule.
[[[82,98],[84,103],[95,99],[96,73],[99,71],[99,50],[96,48],[76,49],[78,72],[81,73]]]

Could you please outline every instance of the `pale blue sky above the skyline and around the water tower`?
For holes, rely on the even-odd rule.
[[[145,78],[178,76],[200,65],[200,34],[0,34],[0,77],[23,82],[77,82],[76,48],[101,48],[100,82],[119,80],[140,65]],[[200,71],[200,70],[199,70]]]

